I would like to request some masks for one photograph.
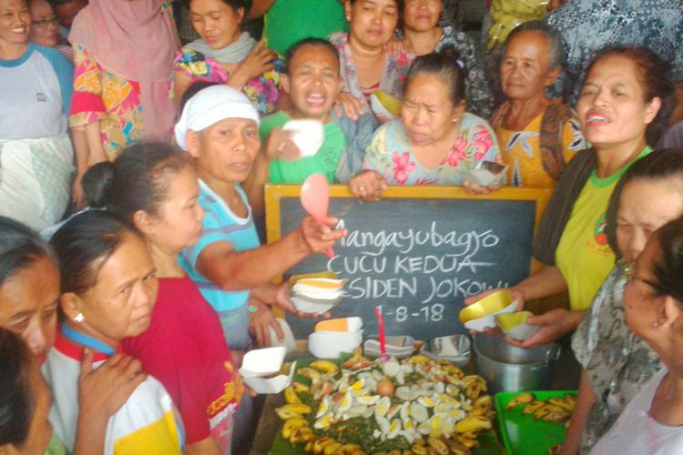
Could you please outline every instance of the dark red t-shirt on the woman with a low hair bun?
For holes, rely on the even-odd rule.
[[[188,444],[229,444],[237,410],[235,371],[216,311],[188,278],[159,278],[149,329],[122,343],[168,390],[185,424]]]

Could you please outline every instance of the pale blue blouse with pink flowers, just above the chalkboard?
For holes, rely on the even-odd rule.
[[[389,185],[462,185],[459,172],[472,168],[476,161],[494,161],[498,143],[484,119],[464,113],[460,135],[443,162],[424,167],[413,154],[403,123],[394,120],[375,131],[365,151],[363,168],[377,171]]]

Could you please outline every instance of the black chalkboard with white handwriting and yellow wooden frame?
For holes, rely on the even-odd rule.
[[[305,216],[301,187],[266,189],[268,240],[291,232]],[[334,258],[315,255],[286,274],[331,270],[347,278],[332,317],[361,316],[377,333],[373,308],[382,306],[388,335],[429,339],[466,329],[463,299],[515,284],[532,269],[531,242],[548,192],[505,188],[472,197],[461,187],[392,187],[382,200],[363,202],[346,187],[331,188],[329,213],[349,233]],[[287,316],[296,339],[315,321]]]

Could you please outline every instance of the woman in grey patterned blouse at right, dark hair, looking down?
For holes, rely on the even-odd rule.
[[[639,159],[612,194],[606,233],[618,261],[572,337],[572,349],[583,369],[565,454],[590,450],[662,368],[657,353],[628,329],[624,288],[629,265],[640,256],[647,238],[681,215],[681,149],[658,150]]]

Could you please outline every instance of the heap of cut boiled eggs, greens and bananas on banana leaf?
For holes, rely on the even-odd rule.
[[[276,412],[282,437],[308,452],[468,454],[492,428],[484,379],[447,361],[372,361],[359,349],[341,366],[316,360],[297,374]]]

